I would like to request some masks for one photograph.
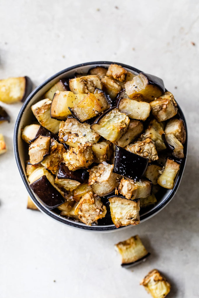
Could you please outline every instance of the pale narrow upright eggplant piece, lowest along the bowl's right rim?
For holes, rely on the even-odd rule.
[[[164,188],[172,189],[180,164],[167,158],[164,167],[163,173],[158,178],[158,184]]]

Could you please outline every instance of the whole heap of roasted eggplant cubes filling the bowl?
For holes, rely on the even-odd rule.
[[[173,188],[186,131],[160,78],[97,66],[61,79],[31,109],[26,174],[48,209],[118,228],[139,224],[140,208]]]

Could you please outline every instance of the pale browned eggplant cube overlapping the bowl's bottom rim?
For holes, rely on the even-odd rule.
[[[109,202],[112,222],[116,228],[140,223],[139,200],[132,201],[123,197],[113,196],[109,198]]]

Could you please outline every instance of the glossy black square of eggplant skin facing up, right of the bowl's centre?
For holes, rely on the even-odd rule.
[[[144,174],[148,160],[116,145],[113,172],[121,176],[140,179]]]

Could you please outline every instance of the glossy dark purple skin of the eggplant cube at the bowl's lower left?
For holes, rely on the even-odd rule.
[[[48,209],[54,209],[65,202],[65,199],[53,187],[45,175],[30,184],[30,189]]]

